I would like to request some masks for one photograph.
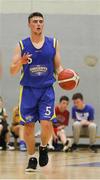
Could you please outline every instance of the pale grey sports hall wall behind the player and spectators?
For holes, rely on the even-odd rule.
[[[84,63],[88,55],[100,59],[99,7],[100,1],[96,0],[0,0],[0,59],[3,63],[0,95],[4,98],[9,122],[19,95],[19,75],[11,77],[9,73],[13,49],[20,39],[29,35],[28,15],[41,11],[45,15],[45,34],[55,36],[60,42],[63,67],[80,74],[80,84],[74,91],[64,91],[55,84],[56,102],[61,95],[71,98],[75,92],[83,93],[86,102],[95,107],[100,135],[100,63],[98,61],[95,67]],[[70,120],[67,134],[71,134],[71,124]]]

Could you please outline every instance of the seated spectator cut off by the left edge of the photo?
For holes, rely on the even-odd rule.
[[[14,150],[14,147],[10,145],[10,131],[7,123],[8,115],[3,106],[3,99],[0,96],[0,150],[3,148]]]

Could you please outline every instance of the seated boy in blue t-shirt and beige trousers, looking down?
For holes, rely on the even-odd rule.
[[[72,107],[73,137],[74,144],[72,151],[77,149],[81,135],[89,136],[90,149],[97,152],[94,143],[96,141],[96,124],[94,123],[94,108],[85,104],[83,95],[76,93],[72,97],[74,106]]]

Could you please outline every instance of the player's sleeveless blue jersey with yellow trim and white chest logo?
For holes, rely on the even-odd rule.
[[[45,37],[43,46],[37,49],[30,37],[19,42],[21,55],[32,54],[28,64],[23,65],[20,84],[34,88],[52,86],[54,78],[54,57],[56,54],[55,38]]]

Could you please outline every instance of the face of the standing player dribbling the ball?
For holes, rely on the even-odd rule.
[[[44,19],[42,17],[33,17],[30,19],[29,27],[31,32],[36,35],[41,35],[44,27]]]

